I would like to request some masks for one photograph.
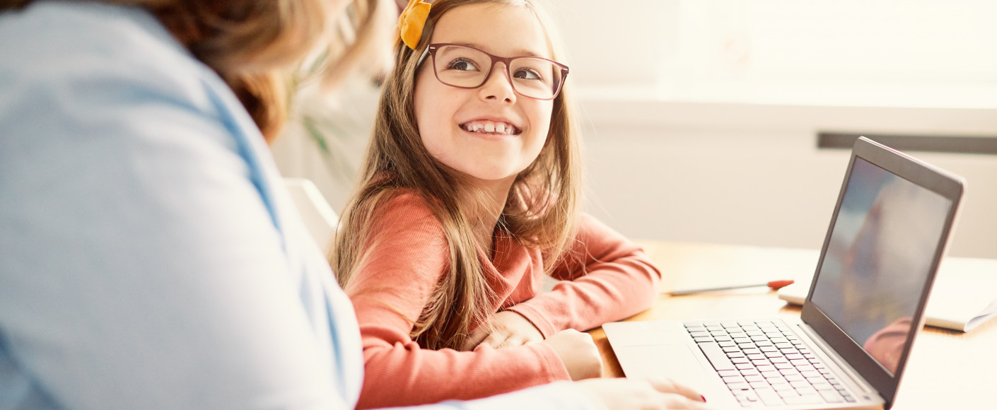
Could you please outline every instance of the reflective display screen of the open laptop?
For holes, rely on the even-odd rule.
[[[951,201],[855,158],[811,301],[890,374]]]

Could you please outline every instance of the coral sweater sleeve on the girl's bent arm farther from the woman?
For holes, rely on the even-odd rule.
[[[581,215],[573,245],[551,276],[562,281],[507,309],[531,321],[543,337],[637,314],[651,306],[661,282],[643,248],[588,214]]]

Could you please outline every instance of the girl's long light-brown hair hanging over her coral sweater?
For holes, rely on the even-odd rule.
[[[478,257],[482,245],[473,234],[475,221],[466,216],[475,206],[475,201],[469,204],[467,200],[482,198],[483,194],[473,192],[463,184],[464,176],[426,150],[413,103],[417,60],[429,45],[437,22],[454,8],[478,3],[525,7],[544,30],[549,30],[548,19],[528,0],[433,3],[416,50],[401,43],[396,46],[396,67],[384,86],[358,189],[343,211],[329,254],[333,271],[346,288],[362,268],[369,247],[376,246],[369,230],[378,207],[406,189],[422,196],[440,220],[450,247],[450,265],[442,272],[426,307],[418,318],[407,318],[413,322],[413,339],[431,349],[459,348],[464,336],[476,325],[487,325],[494,313],[495,292]],[[551,34],[547,32],[547,40],[556,59],[559,47]],[[547,271],[573,237],[580,196],[578,137],[568,104],[569,93],[570,87],[565,86],[553,101],[544,149],[516,177],[498,219],[500,231],[519,243],[543,250]]]

